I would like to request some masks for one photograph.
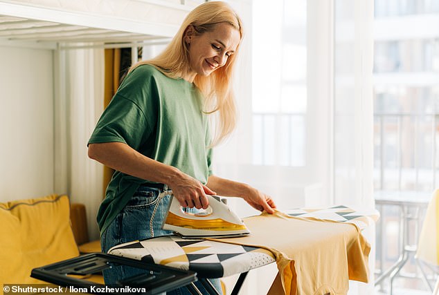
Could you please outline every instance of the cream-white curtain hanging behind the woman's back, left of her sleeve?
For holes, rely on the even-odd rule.
[[[104,50],[62,50],[55,103],[55,189],[87,208],[89,238],[99,238],[96,213],[102,201],[102,165],[87,157],[87,141],[104,104]]]

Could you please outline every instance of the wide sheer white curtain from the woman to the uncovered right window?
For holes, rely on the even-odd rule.
[[[373,207],[373,1],[244,3],[240,121],[215,149],[214,172],[269,193],[281,210]],[[375,228],[364,234],[373,245]],[[373,294],[374,256],[371,282],[350,294]]]

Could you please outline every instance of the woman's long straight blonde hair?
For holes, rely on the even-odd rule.
[[[231,7],[220,1],[206,2],[197,6],[186,16],[179,31],[161,54],[149,60],[139,61],[130,70],[142,64],[152,64],[168,77],[182,77],[190,70],[188,44],[184,40],[186,29],[188,26],[193,26],[197,34],[203,34],[214,30],[218,23],[229,23],[240,32],[242,39],[242,21]],[[239,44],[224,66],[207,77],[196,75],[194,79],[195,85],[206,97],[205,113],[216,113],[213,140],[210,146],[220,143],[235,129],[237,115],[231,79],[238,48]]]

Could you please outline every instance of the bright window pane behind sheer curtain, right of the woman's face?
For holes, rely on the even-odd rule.
[[[304,166],[306,1],[255,1],[253,13],[253,164]]]

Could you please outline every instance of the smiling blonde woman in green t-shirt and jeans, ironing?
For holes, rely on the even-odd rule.
[[[161,229],[170,196],[158,198],[167,189],[183,207],[206,209],[206,194],[218,193],[274,212],[269,196],[211,170],[212,146],[235,125],[230,84],[241,39],[235,12],[224,2],[206,2],[189,13],[161,55],[129,70],[89,140],[89,157],[116,170],[98,212],[102,251],[170,234]],[[111,269],[105,283],[129,275]]]

